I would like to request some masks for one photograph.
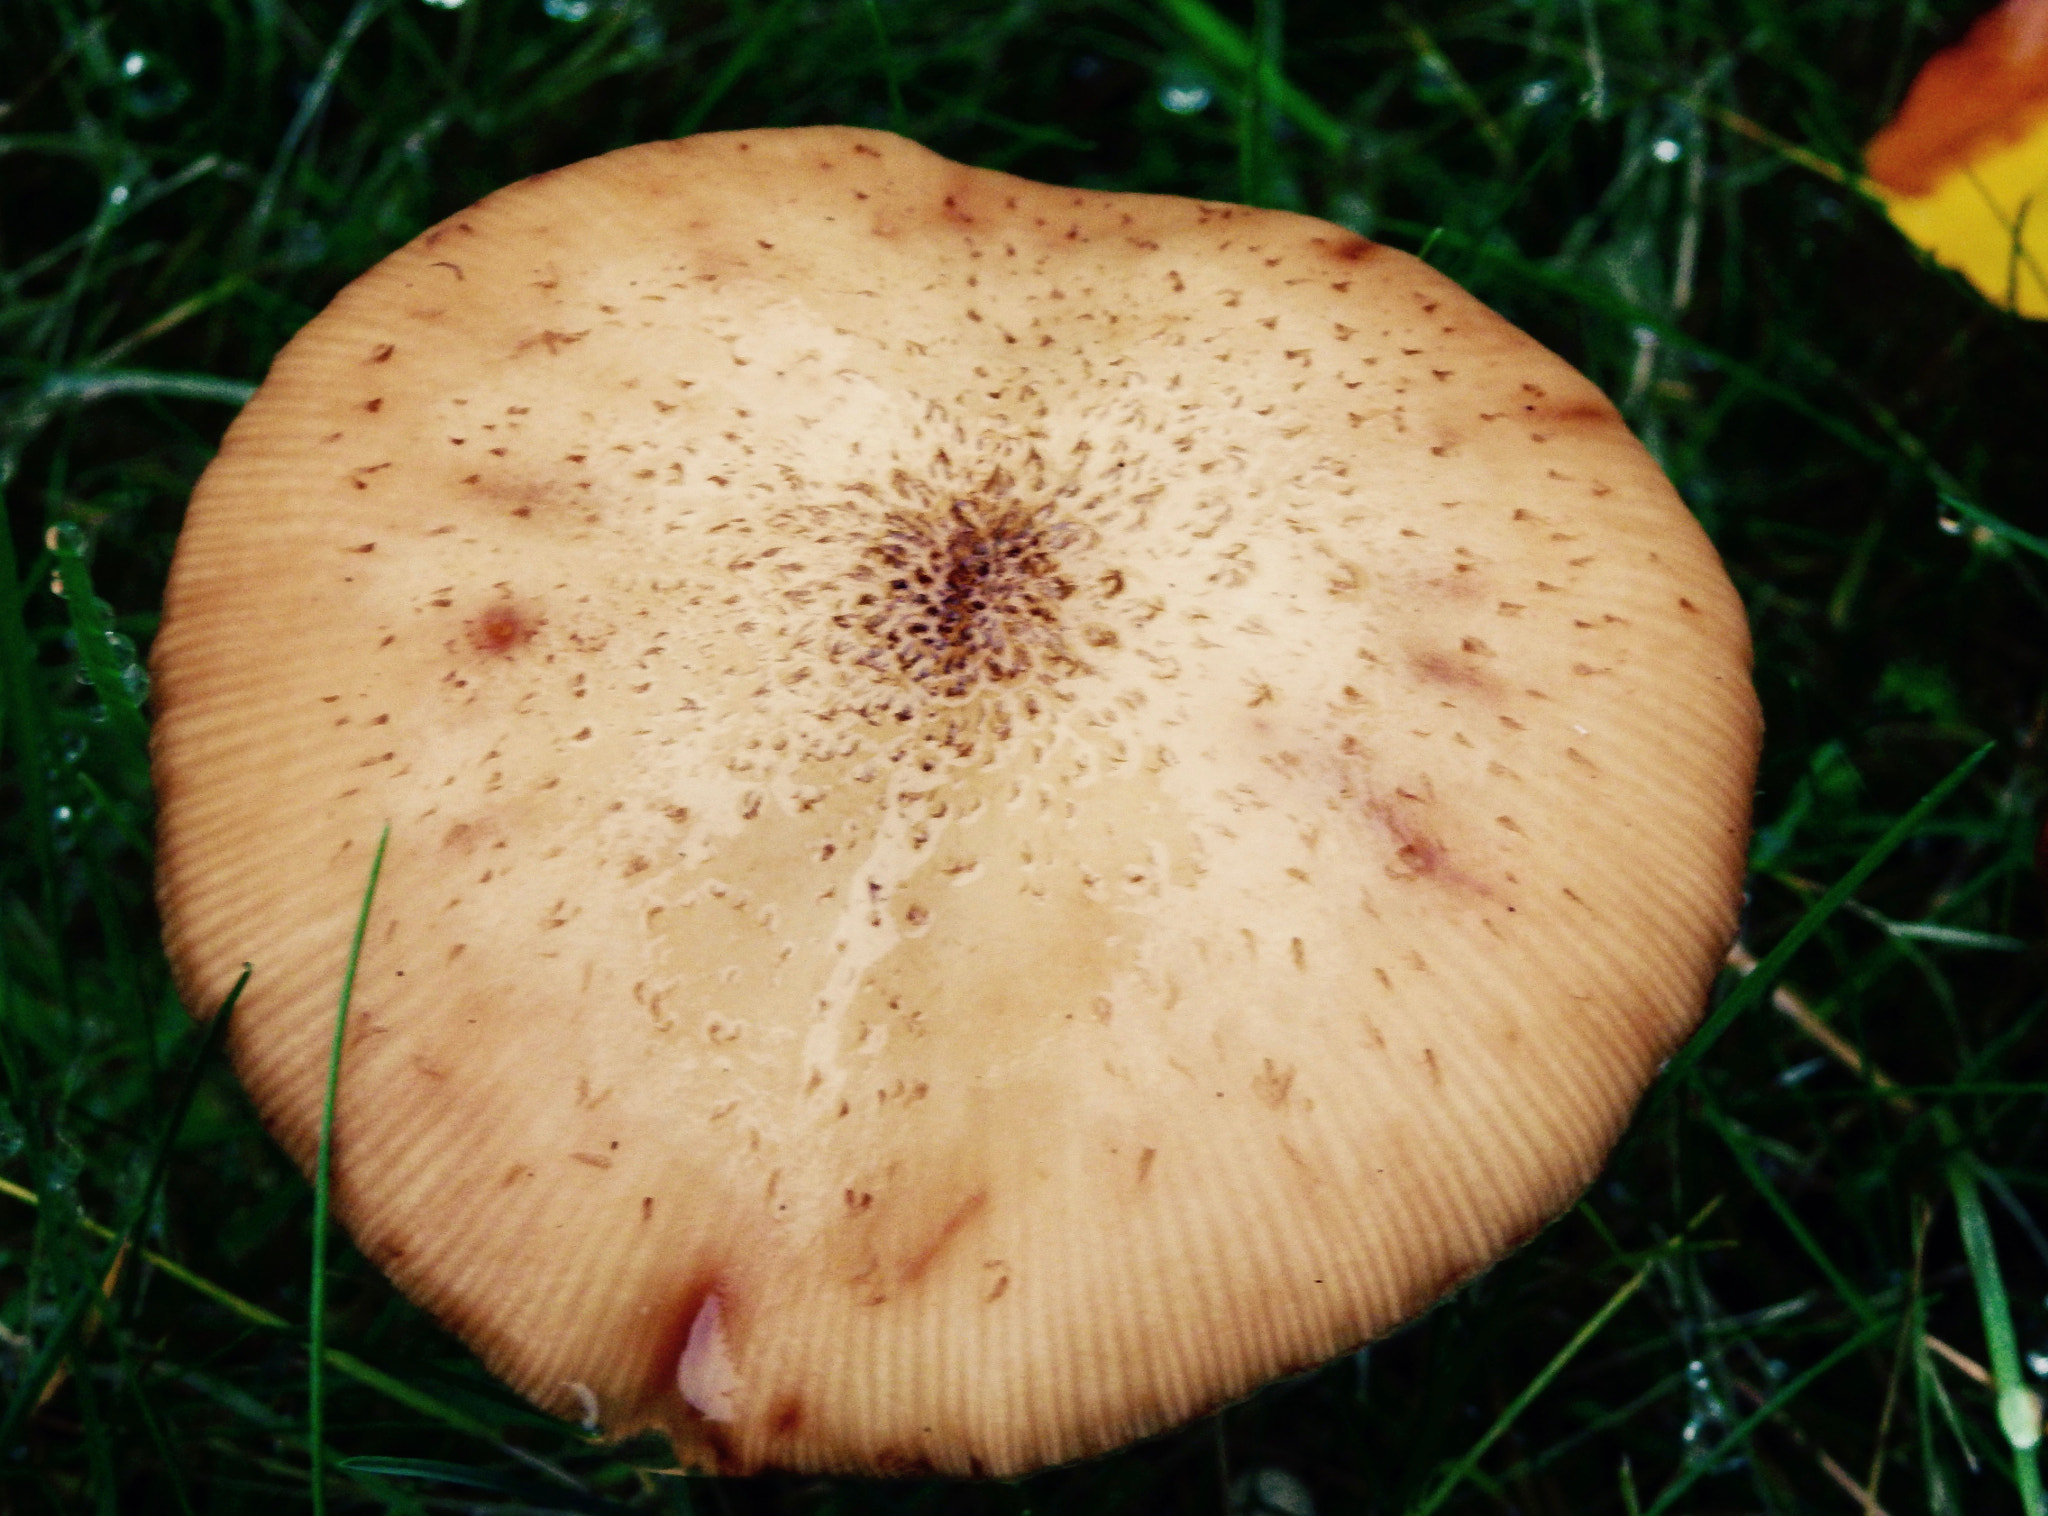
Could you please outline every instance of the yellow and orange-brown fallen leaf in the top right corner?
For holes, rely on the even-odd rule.
[[[2005,0],[1927,59],[1866,168],[1907,238],[1993,305],[2048,318],[2048,0]]]

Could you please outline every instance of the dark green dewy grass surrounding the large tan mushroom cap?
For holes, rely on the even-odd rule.
[[[1853,178],[1972,8],[0,6],[0,1508],[274,1512],[319,1469],[393,1512],[2040,1512],[2048,324]],[[520,174],[811,121],[1425,250],[1616,397],[1757,639],[1749,973],[1581,1205],[1386,1342],[1022,1483],[674,1479],[346,1248],[315,1309],[313,1192],[156,944],[141,658],[276,346]]]

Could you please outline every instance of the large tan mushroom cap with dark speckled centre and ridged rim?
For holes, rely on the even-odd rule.
[[[1298,215],[852,129],[348,287],[156,651],[193,1006],[541,1405],[1014,1473],[1370,1338],[1593,1176],[1733,932],[1741,606],[1599,391]]]

